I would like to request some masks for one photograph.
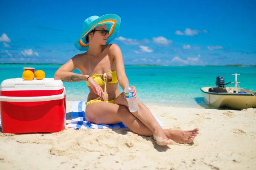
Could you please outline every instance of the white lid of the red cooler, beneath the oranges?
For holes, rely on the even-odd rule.
[[[0,91],[60,90],[62,88],[64,88],[64,84],[60,79],[24,80],[23,78],[15,78],[3,80]]]

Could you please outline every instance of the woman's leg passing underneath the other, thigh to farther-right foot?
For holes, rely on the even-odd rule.
[[[99,102],[91,103],[86,107],[86,119],[96,124],[116,124],[119,122],[125,125],[134,133],[153,136],[153,132],[148,129],[137,117],[135,117],[125,105],[124,98],[118,96],[115,102],[124,102],[122,105]],[[190,131],[163,129],[165,135],[178,143],[191,143],[199,133],[198,129]]]

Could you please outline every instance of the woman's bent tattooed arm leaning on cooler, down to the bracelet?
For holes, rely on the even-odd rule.
[[[55,79],[61,79],[64,82],[81,82],[86,81],[89,75],[73,73],[80,65],[79,55],[76,55],[64,65],[62,65],[54,74]]]

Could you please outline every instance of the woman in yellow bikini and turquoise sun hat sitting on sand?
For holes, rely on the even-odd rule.
[[[118,45],[110,44],[116,37],[120,17],[107,14],[101,17],[92,16],[84,21],[84,31],[75,46],[78,54],[62,65],[55,73],[55,79],[65,82],[86,81],[90,93],[87,97],[86,119],[94,124],[116,124],[123,122],[134,133],[154,136],[157,144],[167,145],[173,141],[191,143],[199,133],[198,128],[190,131],[162,129],[148,108],[137,99],[134,86],[134,97],[139,111],[131,113],[124,93],[129,84],[125,74],[122,53]],[[73,73],[78,69],[81,74]]]

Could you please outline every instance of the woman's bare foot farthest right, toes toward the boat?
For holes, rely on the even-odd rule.
[[[168,139],[172,139],[174,142],[177,143],[192,143],[195,139],[195,136],[199,134],[199,129],[195,128],[194,130],[172,130],[172,129],[165,129],[164,130]]]

